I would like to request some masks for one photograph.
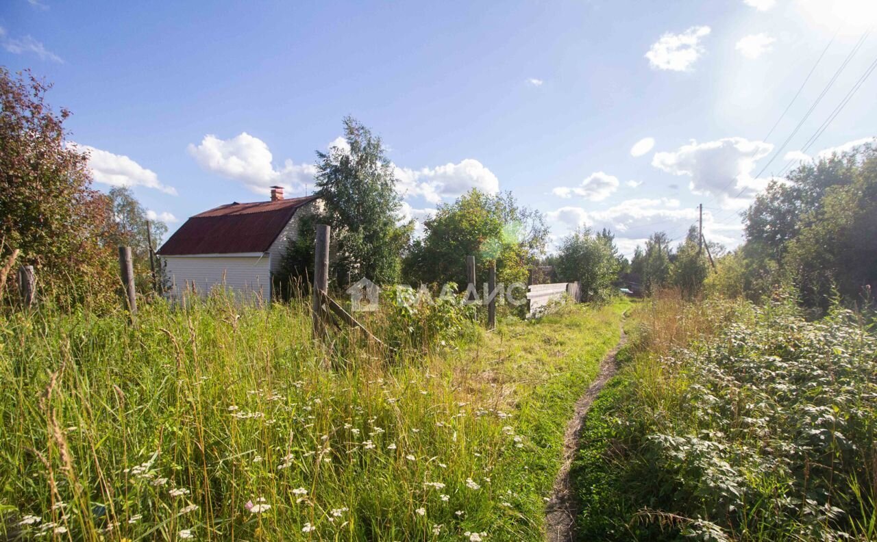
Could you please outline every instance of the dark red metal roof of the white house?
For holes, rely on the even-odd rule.
[[[296,210],[317,196],[255,203],[229,203],[192,216],[168,241],[159,256],[265,252]]]

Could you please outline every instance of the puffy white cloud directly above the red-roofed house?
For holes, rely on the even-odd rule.
[[[204,170],[238,180],[256,194],[269,194],[274,185],[301,192],[317,173],[315,165],[295,164],[290,159],[275,166],[268,145],[246,131],[231,139],[204,136],[201,144],[189,144],[189,154]]]

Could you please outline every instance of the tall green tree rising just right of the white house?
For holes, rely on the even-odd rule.
[[[332,226],[332,267],[342,285],[348,277],[392,284],[413,224],[396,225],[401,199],[381,138],[350,116],[344,131],[349,148],[317,151],[319,222]]]

